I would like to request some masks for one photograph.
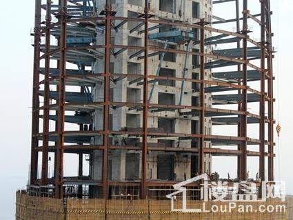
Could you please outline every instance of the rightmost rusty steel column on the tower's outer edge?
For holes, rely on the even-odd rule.
[[[269,141],[269,159],[268,159],[268,179],[274,181],[274,95],[273,95],[273,83],[274,75],[272,69],[272,27],[270,17],[270,0],[263,0],[266,3],[265,14],[266,14],[266,38],[267,38],[267,95],[268,101],[268,141]]]

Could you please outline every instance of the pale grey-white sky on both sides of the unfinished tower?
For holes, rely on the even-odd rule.
[[[258,0],[249,1],[255,11]],[[292,149],[292,0],[271,0],[274,11],[272,24],[274,28],[274,46],[278,50],[274,61],[276,76],[275,97],[277,105],[275,119],[282,126],[281,138],[276,139],[276,178],[287,182],[287,192],[293,194],[293,149]],[[227,14],[229,13],[229,8]],[[278,13],[279,12],[279,13]],[[217,15],[217,14],[215,14]],[[30,31],[34,26],[34,1],[1,2],[1,86],[0,114],[2,148],[0,158],[0,219],[14,219],[14,192],[26,186],[28,163],[30,161],[30,117],[32,102],[32,37]],[[278,85],[279,84],[279,88]],[[279,94],[277,94],[279,92]],[[281,160],[278,160],[280,158]],[[249,161],[249,168],[255,172],[255,161]],[[230,168],[230,159],[214,161],[219,172],[226,175]],[[280,172],[279,172],[280,171]],[[256,171],[257,172],[257,171]],[[280,177],[280,178],[279,178]]]

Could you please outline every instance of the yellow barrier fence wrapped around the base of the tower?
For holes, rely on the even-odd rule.
[[[241,206],[242,205],[242,206]],[[293,197],[287,197],[286,202],[269,200],[267,202],[250,203],[252,206],[245,206],[245,203],[236,203],[237,208],[228,212],[228,203],[205,203],[205,210],[222,208],[225,212],[206,213],[183,213],[172,212],[171,202],[168,200],[107,200],[104,199],[52,199],[44,197],[32,197],[26,193],[17,192],[17,220],[120,220],[120,219],[140,219],[140,220],[292,220],[293,219]],[[181,208],[182,201],[175,201],[174,208]],[[188,201],[188,208],[203,208],[202,201]],[[259,207],[268,208],[260,212]],[[281,212],[282,207],[286,207],[285,212]],[[243,212],[239,208],[243,207]],[[276,210],[279,208],[279,210]],[[247,212],[247,210],[249,212]],[[250,211],[252,210],[252,211]]]

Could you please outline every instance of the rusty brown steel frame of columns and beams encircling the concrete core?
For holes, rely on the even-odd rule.
[[[214,4],[225,3],[231,0],[214,1]],[[92,150],[103,151],[103,174],[102,181],[84,180],[79,178],[74,181],[75,184],[91,184],[103,187],[103,197],[109,197],[109,186],[114,183],[108,179],[108,155],[110,150],[124,149],[124,150],[139,150],[142,154],[142,169],[141,182],[128,182],[132,186],[140,186],[142,199],[148,196],[148,187],[150,186],[172,186],[172,181],[149,181],[147,179],[147,155],[149,151],[165,151],[165,152],[188,152],[190,154],[199,154],[199,172],[203,173],[203,156],[204,154],[236,156],[238,157],[238,175],[240,180],[245,180],[247,173],[247,157],[259,157],[260,178],[265,179],[265,157],[268,158],[268,179],[274,179],[274,110],[273,110],[273,73],[272,73],[272,31],[270,21],[270,1],[261,0],[261,13],[250,14],[247,6],[247,0],[243,0],[243,17],[239,16],[239,0],[235,1],[236,5],[236,19],[219,19],[213,21],[212,25],[216,26],[221,23],[236,22],[236,32],[227,30],[220,30],[213,28],[210,23],[201,19],[199,23],[186,23],[176,21],[161,21],[152,19],[152,12],[149,10],[148,0],[145,0],[144,13],[139,17],[117,17],[111,8],[110,0],[106,1],[105,9],[101,14],[94,14],[92,6],[87,5],[86,1],[67,1],[59,0],[59,5],[52,6],[51,1],[48,0],[45,5],[41,4],[41,0],[36,0],[35,10],[35,28],[34,28],[34,77],[33,77],[33,99],[32,99],[32,145],[31,145],[31,168],[30,168],[30,184],[32,186],[48,186],[54,185],[54,197],[63,197],[63,185],[70,182],[72,179],[64,177],[63,175],[63,154],[74,153],[79,154],[79,174],[82,174],[82,155],[92,152]],[[41,21],[41,10],[46,10],[46,21]],[[75,9],[75,10],[74,10]],[[83,12],[79,16],[77,10]],[[57,18],[57,22],[52,22],[52,15]],[[259,19],[261,17],[261,19]],[[261,42],[256,42],[249,36],[247,30],[247,20],[252,19],[261,28]],[[111,30],[115,30],[123,26],[127,22],[141,23],[143,30],[140,32],[144,34],[143,46],[130,45],[112,45],[111,44]],[[243,27],[241,28],[241,21]],[[73,25],[72,25],[73,24]],[[116,26],[115,26],[116,24]],[[186,52],[185,50],[177,50],[170,48],[161,48],[159,46],[150,45],[149,32],[152,30],[150,24],[153,26],[173,26],[177,28],[196,28],[200,30],[199,52]],[[85,27],[86,25],[102,27],[102,32],[105,36],[105,43],[103,45],[83,45],[74,46],[68,43],[70,35],[70,28]],[[90,30],[90,28],[89,28]],[[54,35],[54,33],[58,34]],[[213,32],[214,37],[206,39],[205,32]],[[58,45],[52,46],[50,41],[51,36],[54,35],[58,39]],[[86,36],[86,35],[85,35]],[[41,39],[45,37],[45,45],[41,45]],[[236,43],[236,48],[227,49],[224,52],[206,53],[205,46],[214,45],[217,43],[227,43],[229,46],[231,42]],[[194,43],[196,43],[194,41]],[[248,46],[253,46],[253,50]],[[103,49],[104,53],[101,55],[97,52],[98,49]],[[144,59],[144,71],[142,75],[130,73],[114,73],[110,71],[111,56],[118,56],[125,50],[137,50],[137,54],[142,54],[140,59]],[[150,53],[151,52],[151,53]],[[188,56],[196,55],[200,57],[200,78],[188,79],[183,77],[162,77],[156,74],[150,74],[148,71],[148,59],[154,54],[163,52],[188,54]],[[133,54],[134,57],[136,54]],[[78,65],[76,57],[82,57],[85,61],[91,61],[91,57],[102,56],[105,60],[104,72],[91,72],[78,69],[68,69],[68,63]],[[214,61],[206,62],[209,58]],[[45,62],[45,68],[40,67],[40,62]],[[57,67],[52,66],[52,60],[57,60]],[[254,60],[258,60],[260,66],[254,64]],[[221,77],[219,72],[214,73],[214,80],[205,79],[205,69],[218,68],[221,66],[237,66],[237,71],[231,71]],[[226,71],[227,72],[227,71]],[[230,76],[229,76],[230,74]],[[225,80],[219,80],[219,77]],[[143,81],[143,103],[129,103],[110,101],[110,83],[119,81],[125,77],[134,78],[137,81]],[[169,81],[186,81],[192,83],[199,83],[199,106],[183,106],[183,105],[162,105],[154,104],[148,101],[148,85],[152,81],[169,80]],[[91,86],[96,81],[104,82],[104,101],[94,102],[84,100],[83,97],[77,98],[72,96],[67,91],[67,86],[79,86],[81,88],[80,94],[85,94],[86,86]],[[255,90],[247,86],[250,81],[259,81],[261,90]],[[265,86],[267,83],[267,86]],[[50,86],[56,86],[55,91]],[[41,87],[43,86],[43,91]],[[267,88],[267,90],[266,90]],[[229,94],[219,101],[225,99],[225,104],[236,104],[238,110],[230,110],[225,108],[208,108],[205,106],[205,93],[217,91],[236,90],[238,94]],[[54,93],[55,92],[55,93]],[[43,97],[43,106],[40,106],[40,97]],[[214,97],[216,99],[216,97]],[[219,98],[219,97],[218,97]],[[220,97],[221,98],[221,97]],[[55,99],[55,103],[50,103],[50,99]],[[259,114],[252,114],[247,109],[247,103],[259,103]],[[218,102],[219,103],[219,102]],[[266,107],[267,106],[267,107]],[[94,108],[103,108],[103,130],[83,130],[82,125],[88,123],[86,117],[73,118],[65,115],[65,111],[84,111],[91,112]],[[137,131],[112,131],[109,129],[109,112],[110,108],[134,108],[142,110],[143,112],[143,128]],[[268,115],[265,117],[265,110],[268,110]],[[182,134],[182,133],[162,133],[154,132],[148,128],[148,114],[150,112],[159,112],[161,110],[179,111],[182,116],[192,115],[199,116],[199,134]],[[184,110],[184,111],[181,111]],[[56,114],[50,115],[50,112],[55,111]],[[43,115],[40,114],[43,112]],[[205,117],[216,117],[214,123],[237,124],[238,137],[219,136],[212,134],[205,134]],[[234,116],[228,119],[223,116]],[[40,119],[43,120],[43,128],[40,132]],[[55,129],[50,130],[49,121],[56,121]],[[65,123],[77,120],[77,124],[81,125],[80,130],[65,130]],[[83,122],[84,121],[84,122]],[[251,139],[247,137],[247,123],[259,124],[259,139]],[[265,124],[267,124],[267,140],[265,140]],[[100,135],[103,137],[103,145],[83,145],[81,143],[88,143],[88,139],[93,136]],[[113,135],[129,135],[142,137],[142,147],[139,146],[113,146],[109,137]],[[65,143],[74,143],[68,141],[74,137],[81,137],[74,145],[65,145]],[[148,146],[148,139],[150,137],[178,137],[179,139],[196,139],[199,141],[199,148],[159,148]],[[42,141],[42,146],[39,146],[39,141]],[[54,142],[54,145],[49,145],[49,142]],[[238,150],[225,150],[221,148],[204,148],[205,141],[212,141],[213,144],[227,143],[238,146]],[[259,151],[247,150],[247,145],[253,144],[259,146]],[[266,152],[265,146],[268,150]],[[48,178],[48,152],[54,152],[54,177]],[[42,169],[41,179],[37,177],[38,171],[38,155],[42,154]],[[81,194],[81,192],[79,191]]]

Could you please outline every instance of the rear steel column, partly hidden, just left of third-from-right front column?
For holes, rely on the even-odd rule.
[[[236,32],[240,32],[240,17],[239,17],[239,0],[235,0],[235,10],[236,10]],[[237,48],[241,48],[241,39],[238,38],[237,40]],[[237,65],[237,70],[241,71],[241,65]],[[238,85],[241,85],[241,80],[238,80]],[[238,94],[242,94],[241,90],[238,90]],[[238,110],[241,111],[241,101],[238,102]],[[241,137],[241,115],[238,115],[238,122],[237,122],[237,136]],[[238,150],[242,149],[241,143],[237,146]],[[241,156],[237,156],[237,178],[241,179]]]

